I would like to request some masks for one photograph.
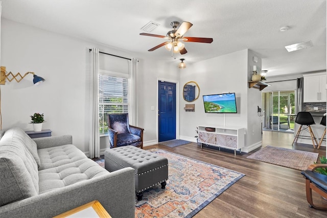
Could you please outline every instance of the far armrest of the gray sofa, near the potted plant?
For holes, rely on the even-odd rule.
[[[37,149],[73,144],[71,135],[34,138],[33,140],[36,142]]]

